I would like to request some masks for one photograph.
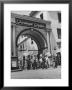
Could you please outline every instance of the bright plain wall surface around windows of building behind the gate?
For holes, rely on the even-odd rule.
[[[35,14],[34,17],[40,18],[41,13],[43,13],[44,20],[51,21],[51,28],[56,42],[60,41],[57,35],[57,28],[61,28],[61,24],[58,22],[58,11],[40,11],[37,14]]]

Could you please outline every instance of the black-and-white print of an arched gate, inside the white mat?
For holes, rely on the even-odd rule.
[[[11,11],[11,78],[61,79],[61,11]]]

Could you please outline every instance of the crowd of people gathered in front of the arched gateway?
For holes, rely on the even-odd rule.
[[[61,65],[61,55],[28,55],[23,56],[23,60],[18,61],[18,66],[22,70],[47,69],[49,67],[57,68]]]

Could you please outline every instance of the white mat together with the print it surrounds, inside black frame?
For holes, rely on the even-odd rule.
[[[68,4],[4,5],[5,86],[68,85],[68,9]]]

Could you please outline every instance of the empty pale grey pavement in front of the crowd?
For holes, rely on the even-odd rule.
[[[57,68],[11,72],[11,79],[61,79],[61,66]]]

